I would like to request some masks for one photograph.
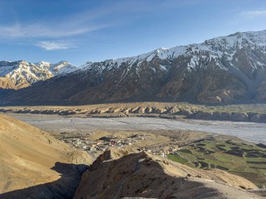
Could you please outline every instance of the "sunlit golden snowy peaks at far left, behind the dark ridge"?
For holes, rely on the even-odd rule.
[[[47,80],[56,75],[76,71],[77,67],[67,61],[50,64],[45,61],[36,64],[27,61],[0,61],[0,88],[21,89],[34,82]]]

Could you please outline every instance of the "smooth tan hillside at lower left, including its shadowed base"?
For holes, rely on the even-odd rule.
[[[52,135],[0,115],[0,198],[72,198],[92,162]],[[64,187],[64,189],[62,189]]]

